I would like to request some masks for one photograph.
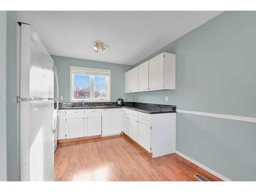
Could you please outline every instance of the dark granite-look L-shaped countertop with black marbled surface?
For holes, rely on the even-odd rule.
[[[56,108],[56,105],[55,105]],[[88,102],[86,106],[81,106],[81,103],[59,103],[59,110],[77,110],[77,109],[113,109],[126,108],[134,111],[147,114],[160,113],[176,113],[175,105],[139,103],[139,102],[124,102],[123,105],[117,105],[116,102]]]

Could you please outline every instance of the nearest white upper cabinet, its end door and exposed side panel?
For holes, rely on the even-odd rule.
[[[176,58],[161,53],[149,61],[149,91],[175,89]]]

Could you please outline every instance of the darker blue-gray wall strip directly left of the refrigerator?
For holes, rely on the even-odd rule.
[[[19,180],[19,131],[17,90],[17,11],[7,11],[6,66],[6,123],[7,123],[7,180]]]

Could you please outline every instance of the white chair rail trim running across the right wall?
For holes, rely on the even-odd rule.
[[[205,112],[185,111],[185,110],[176,110],[176,111],[177,111],[177,113],[186,113],[186,114],[192,114],[192,115],[202,115],[202,116],[208,116],[208,117],[217,117],[217,118],[223,118],[223,119],[232,119],[232,120],[256,123],[256,118],[253,118],[253,117],[243,117],[243,116],[235,116],[235,115],[223,115],[223,114],[217,114],[217,113],[205,113]]]

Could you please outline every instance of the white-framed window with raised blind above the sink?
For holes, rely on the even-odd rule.
[[[70,67],[70,101],[110,101],[110,71]]]

